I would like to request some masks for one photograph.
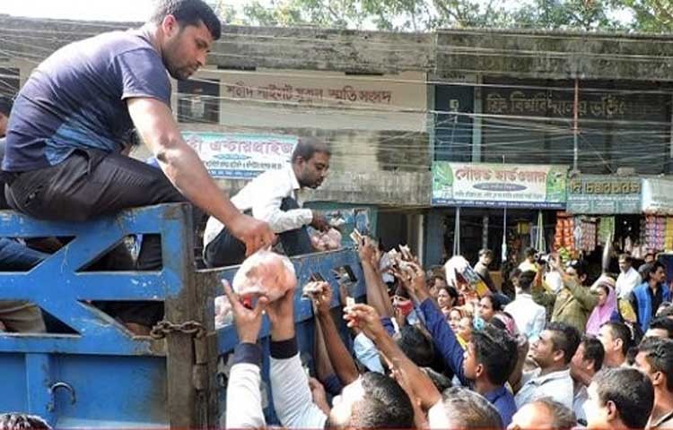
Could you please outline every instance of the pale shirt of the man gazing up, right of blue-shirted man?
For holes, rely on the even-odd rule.
[[[539,374],[540,369],[523,374],[521,389],[514,396],[517,408],[521,409],[523,405],[548,397],[572,410],[574,385],[570,377],[570,369],[559,370],[544,376]]]

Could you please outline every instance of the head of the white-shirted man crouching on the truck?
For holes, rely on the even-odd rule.
[[[303,138],[293,152],[293,169],[302,187],[318,188],[328,176],[329,158],[332,153],[325,142]]]

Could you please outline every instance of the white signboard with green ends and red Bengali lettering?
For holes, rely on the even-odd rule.
[[[435,206],[565,209],[567,166],[433,163]]]

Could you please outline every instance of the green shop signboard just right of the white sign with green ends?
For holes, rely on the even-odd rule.
[[[641,212],[642,181],[634,176],[582,175],[568,179],[566,211],[583,215]]]

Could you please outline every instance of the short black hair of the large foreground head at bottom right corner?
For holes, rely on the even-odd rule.
[[[650,378],[631,367],[601,370],[593,377],[600,402],[615,404],[619,419],[628,428],[644,428],[654,405]]]

